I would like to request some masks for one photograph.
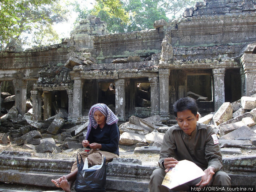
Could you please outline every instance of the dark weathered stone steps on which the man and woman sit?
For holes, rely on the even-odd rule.
[[[256,185],[255,159],[256,155],[223,158],[223,169],[231,177],[232,185]],[[32,158],[29,153],[3,151],[0,154],[0,182],[59,190],[51,179],[68,174],[73,162]],[[143,166],[138,159],[114,158],[107,165],[106,190],[148,192],[150,175],[157,168]]]

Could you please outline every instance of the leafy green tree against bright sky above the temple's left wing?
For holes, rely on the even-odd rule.
[[[52,26],[68,14],[59,0],[1,0],[0,10],[0,50],[57,43]]]

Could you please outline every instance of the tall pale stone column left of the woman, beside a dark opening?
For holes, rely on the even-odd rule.
[[[78,117],[82,116],[83,109],[83,79],[75,79],[73,89],[73,114],[72,121],[76,121]]]

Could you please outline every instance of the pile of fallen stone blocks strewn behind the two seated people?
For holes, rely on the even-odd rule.
[[[5,94],[6,95],[6,94]],[[23,148],[37,153],[60,153],[82,147],[86,134],[86,123],[67,120],[68,113],[59,113],[47,120],[33,121],[31,113],[18,114],[13,106],[0,118],[0,143],[15,142]],[[223,153],[241,154],[241,148],[255,150],[256,147],[256,94],[242,97],[233,103],[225,102],[215,113],[199,118],[200,123],[208,124],[219,136],[221,147],[236,147]],[[159,153],[163,136],[170,127],[163,124],[159,115],[148,118],[131,116],[129,122],[119,126],[120,144],[132,146],[134,153]]]

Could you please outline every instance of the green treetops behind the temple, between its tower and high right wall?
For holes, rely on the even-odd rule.
[[[113,2],[111,4],[111,2]],[[96,0],[92,10],[80,10],[77,20],[96,15],[108,25],[110,33],[153,29],[155,20],[176,18],[193,0]]]

